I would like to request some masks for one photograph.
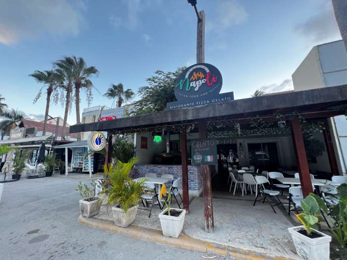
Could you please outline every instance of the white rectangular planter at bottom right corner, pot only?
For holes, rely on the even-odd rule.
[[[302,229],[304,226],[288,228],[297,254],[305,260],[329,260],[331,236],[312,229],[322,237],[309,238],[297,232]]]

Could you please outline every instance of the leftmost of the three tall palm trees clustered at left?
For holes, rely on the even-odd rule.
[[[30,74],[29,76],[35,78],[37,82],[45,84],[44,87],[47,87],[45,120],[44,120],[44,127],[42,130],[42,135],[46,135],[48,112],[50,110],[50,103],[51,103],[51,95],[58,86],[57,73],[55,73],[55,71],[53,70],[45,70],[45,71],[36,70],[34,73]],[[34,99],[34,104],[40,99],[42,94],[42,88],[40,89],[39,93],[36,95],[36,98]]]

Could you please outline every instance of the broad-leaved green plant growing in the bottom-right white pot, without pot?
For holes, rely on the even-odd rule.
[[[319,213],[320,204],[324,206],[325,204],[321,198],[318,197],[318,199],[313,193],[311,193],[301,201],[302,212],[300,214],[296,214],[296,218],[304,226],[308,235],[310,235],[312,232],[311,228],[317,229],[317,223],[319,221],[324,221],[323,217],[319,215]]]

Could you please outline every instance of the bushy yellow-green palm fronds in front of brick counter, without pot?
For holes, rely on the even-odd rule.
[[[107,195],[108,205],[114,206],[119,204],[124,213],[133,206],[138,205],[141,194],[146,188],[146,179],[134,181],[130,178],[130,170],[136,163],[135,157],[129,162],[123,163],[116,161],[114,164],[105,165],[105,174],[108,177],[109,185],[106,186],[102,193]]]

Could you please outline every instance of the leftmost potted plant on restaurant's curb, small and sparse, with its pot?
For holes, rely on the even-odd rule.
[[[76,191],[79,191],[79,194],[82,197],[82,200],[79,201],[79,208],[82,216],[92,217],[99,214],[102,200],[95,196],[95,186],[96,182],[91,182],[92,188],[90,189],[87,184],[82,184],[79,182]]]

